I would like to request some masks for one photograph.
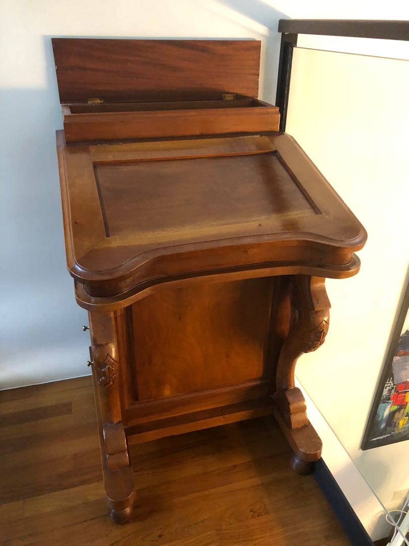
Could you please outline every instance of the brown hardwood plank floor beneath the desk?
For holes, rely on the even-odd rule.
[[[273,418],[131,446],[134,518],[107,517],[90,377],[0,392],[4,545],[350,544]]]

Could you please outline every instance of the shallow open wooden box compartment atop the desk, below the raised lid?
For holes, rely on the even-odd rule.
[[[97,102],[97,100],[96,100]],[[276,106],[253,98],[63,105],[67,143],[276,131]]]

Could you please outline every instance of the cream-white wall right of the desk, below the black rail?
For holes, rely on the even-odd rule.
[[[409,488],[407,442],[360,443],[408,268],[408,89],[407,61],[294,51],[286,130],[368,230],[359,274],[327,281],[327,340],[297,376],[388,508]]]

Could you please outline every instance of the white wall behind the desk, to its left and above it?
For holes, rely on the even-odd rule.
[[[262,2],[2,0],[0,389],[89,373],[86,313],[65,269],[55,130],[62,127],[52,36],[255,38],[275,96],[283,15]],[[238,9],[240,8],[240,9]],[[267,55],[266,55],[267,50]],[[264,70],[263,70],[264,72]]]

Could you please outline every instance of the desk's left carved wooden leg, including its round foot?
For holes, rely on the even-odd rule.
[[[105,496],[109,515],[117,524],[129,521],[135,498],[134,473],[121,421],[120,356],[115,315],[90,312],[92,375],[101,447]]]

